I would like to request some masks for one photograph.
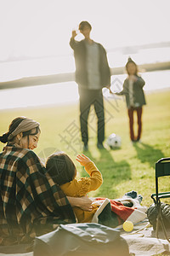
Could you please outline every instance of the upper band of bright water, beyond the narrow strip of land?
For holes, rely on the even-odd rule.
[[[129,54],[108,52],[110,67],[124,67],[129,55],[138,64],[170,61],[170,48],[141,49]],[[23,77],[72,73],[75,65],[73,55],[61,55],[37,60],[0,62],[0,71],[0,82],[3,82]]]

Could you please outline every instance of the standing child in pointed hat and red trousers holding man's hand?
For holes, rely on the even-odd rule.
[[[142,131],[142,106],[146,104],[144,98],[144,79],[139,77],[138,66],[131,59],[128,58],[126,64],[127,70],[127,79],[123,83],[123,90],[116,95],[125,95],[127,102],[127,112],[129,118],[129,127],[130,127],[130,138],[132,143],[140,142],[141,131]],[[133,113],[137,112],[138,117],[138,135],[134,136],[133,131]]]

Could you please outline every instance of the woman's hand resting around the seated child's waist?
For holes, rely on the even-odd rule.
[[[92,200],[88,196],[82,197],[70,197],[67,196],[68,201],[71,204],[71,207],[80,207],[83,211],[91,212],[93,209]]]

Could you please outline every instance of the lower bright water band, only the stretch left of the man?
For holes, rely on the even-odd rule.
[[[70,82],[0,90],[0,97],[0,109],[28,108],[77,102],[78,91],[77,84]]]

